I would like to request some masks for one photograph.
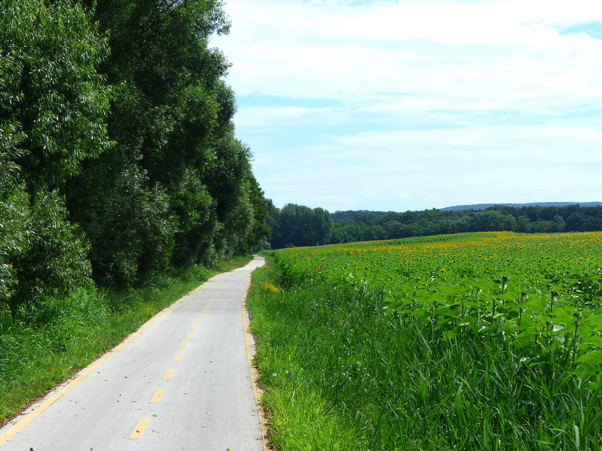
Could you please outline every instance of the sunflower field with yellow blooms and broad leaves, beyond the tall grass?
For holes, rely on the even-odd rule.
[[[465,235],[465,236],[463,236]],[[602,364],[602,233],[511,232],[279,251],[286,277],[369,284],[385,309],[424,318],[441,339],[488,328],[528,364],[562,360],[577,375]],[[577,349],[585,355],[577,358]]]

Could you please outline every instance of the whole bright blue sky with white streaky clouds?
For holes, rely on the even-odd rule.
[[[602,1],[225,0],[277,207],[602,201]]]

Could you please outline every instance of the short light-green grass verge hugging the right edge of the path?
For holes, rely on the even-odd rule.
[[[291,451],[363,449],[353,417],[315,384],[318,367],[303,360],[308,336],[315,334],[294,313],[299,305],[287,305],[291,293],[276,287],[273,258],[262,254],[268,265],[253,272],[247,308],[258,339],[254,363],[265,390],[272,444]]]

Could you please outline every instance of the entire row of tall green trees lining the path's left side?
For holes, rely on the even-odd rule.
[[[0,313],[264,242],[228,28],[219,0],[2,0]]]

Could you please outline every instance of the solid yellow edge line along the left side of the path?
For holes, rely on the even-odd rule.
[[[209,279],[209,280],[211,280],[211,279]],[[68,391],[72,390],[76,385],[79,384],[79,382],[84,380],[96,368],[101,366],[101,364],[105,363],[105,361],[107,361],[108,358],[111,357],[111,355],[116,354],[125,345],[127,345],[128,343],[131,343],[135,339],[135,337],[137,337],[138,335],[143,333],[143,331],[146,330],[151,324],[153,324],[155,321],[157,321],[157,319],[161,318],[161,316],[163,316],[163,314],[165,314],[167,311],[171,310],[173,307],[176,307],[176,305],[180,304],[180,302],[184,301],[185,298],[190,296],[190,293],[198,290],[209,280],[206,280],[205,282],[200,284],[198,287],[196,287],[194,290],[191,290],[190,292],[186,293],[184,296],[179,298],[177,301],[172,302],[172,304],[168,305],[163,310],[159,311],[157,314],[155,314],[155,316],[153,316],[152,318],[149,318],[148,321],[146,321],[144,324],[141,325],[140,328],[138,328],[138,330],[132,332],[127,337],[125,337],[125,339],[123,339],[122,342],[119,343],[119,345],[116,345],[113,348],[109,349],[107,352],[105,352],[105,354],[101,355],[101,357],[97,358],[95,361],[92,361],[90,364],[88,364],[87,367],[84,367],[84,369],[82,369],[79,372],[79,374],[76,375],[63,388],[61,388],[60,390],[58,390],[56,393],[52,394],[48,398],[42,400],[42,403],[40,403],[40,405],[38,405],[38,407],[34,408],[33,411],[29,412],[28,414],[23,416],[22,419],[20,419],[16,423],[14,423],[14,425],[11,426],[6,432],[3,432],[2,434],[0,434],[0,446],[2,444],[6,443],[8,440],[10,440],[12,437],[14,437],[14,435],[17,434],[17,432],[19,432],[21,429],[25,428],[25,426],[27,426],[34,419],[36,419],[36,417],[39,416],[43,411],[45,411],[47,408],[49,408],[58,399],[63,397],[64,394],[66,394]]]

